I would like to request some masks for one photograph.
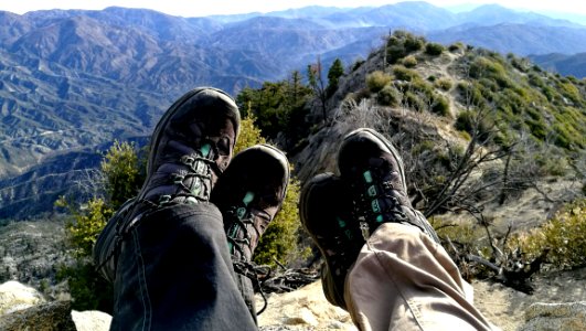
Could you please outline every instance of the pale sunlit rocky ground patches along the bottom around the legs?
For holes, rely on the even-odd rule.
[[[504,331],[586,329],[586,268],[542,273],[534,285],[535,292],[528,296],[500,284],[475,281],[475,306]],[[106,331],[111,320],[98,311],[72,311],[70,301],[47,301],[17,281],[0,285],[0,330]],[[356,330],[345,311],[328,303],[320,281],[271,295],[258,322],[263,331]]]

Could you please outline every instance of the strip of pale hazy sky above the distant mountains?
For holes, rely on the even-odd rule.
[[[110,6],[149,8],[181,17],[210,14],[268,12],[311,4],[332,7],[383,6],[401,2],[397,0],[2,0],[0,10],[24,13],[41,9],[104,9]],[[586,15],[586,1],[564,0],[427,0],[439,7],[462,3],[502,3],[508,8],[523,8],[532,11],[557,11]]]

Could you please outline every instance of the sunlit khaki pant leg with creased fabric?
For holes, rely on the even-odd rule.
[[[360,330],[493,330],[465,284],[444,247],[414,226],[385,223],[349,270],[344,299]]]

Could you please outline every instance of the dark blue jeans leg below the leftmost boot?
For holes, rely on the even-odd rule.
[[[116,221],[94,249],[96,265],[114,281],[110,330],[257,330],[213,204],[159,209],[126,231],[119,245],[126,224]]]

